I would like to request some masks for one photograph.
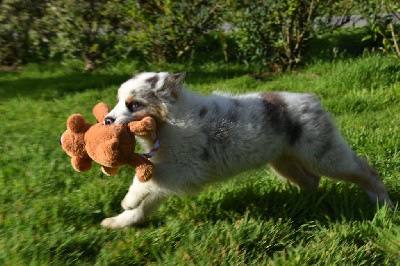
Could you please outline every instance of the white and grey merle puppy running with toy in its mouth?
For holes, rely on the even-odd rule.
[[[321,176],[359,185],[374,202],[392,206],[385,185],[368,162],[348,146],[313,94],[260,92],[202,96],[183,85],[185,73],[145,72],[123,83],[118,103],[104,123],[145,116],[157,122],[155,176],[136,176],[121,214],[102,226],[141,224],[171,195],[196,193],[208,184],[269,165],[303,189],[316,189]],[[138,137],[144,149],[150,138]]]

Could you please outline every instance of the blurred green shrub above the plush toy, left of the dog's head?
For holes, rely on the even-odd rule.
[[[49,1],[47,16],[55,33],[52,56],[82,58],[87,71],[111,57],[122,35],[122,18],[112,0]]]

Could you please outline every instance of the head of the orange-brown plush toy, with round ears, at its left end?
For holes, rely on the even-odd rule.
[[[82,115],[73,114],[68,118],[67,130],[60,139],[62,148],[71,157],[72,167],[78,172],[88,171],[92,167],[92,159],[85,147],[85,133],[90,127]]]

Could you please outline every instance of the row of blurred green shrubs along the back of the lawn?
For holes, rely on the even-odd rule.
[[[336,31],[326,18],[354,13],[369,20],[364,41],[400,57],[399,10],[395,0],[3,0],[0,65],[72,60],[90,71],[220,58],[285,71],[304,62],[309,41]]]

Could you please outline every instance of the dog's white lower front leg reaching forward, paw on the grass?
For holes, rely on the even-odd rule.
[[[144,223],[147,218],[157,210],[165,198],[165,196],[160,194],[150,193],[136,208],[126,210],[117,216],[106,218],[101,222],[101,225],[105,228],[117,229]]]

